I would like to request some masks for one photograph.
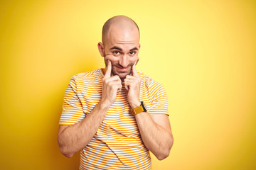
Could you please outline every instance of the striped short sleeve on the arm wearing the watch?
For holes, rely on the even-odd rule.
[[[168,98],[164,86],[159,83],[154,84],[154,96],[151,101],[151,108],[149,114],[166,114],[168,111]]]

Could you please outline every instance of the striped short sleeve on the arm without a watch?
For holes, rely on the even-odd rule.
[[[59,125],[73,125],[83,118],[85,118],[85,113],[82,111],[82,103],[78,98],[75,77],[72,77],[65,91],[63,111],[60,116]]]

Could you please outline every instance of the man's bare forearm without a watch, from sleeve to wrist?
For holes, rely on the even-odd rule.
[[[85,147],[100,127],[108,108],[109,106],[98,103],[86,118],[60,132],[58,135],[60,152],[66,157],[73,157],[76,152]]]

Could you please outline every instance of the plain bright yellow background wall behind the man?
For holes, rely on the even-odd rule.
[[[174,146],[153,169],[256,169],[255,1],[1,1],[0,169],[78,169],[57,143],[70,77],[104,67],[102,25],[141,30],[137,69],[169,97]]]

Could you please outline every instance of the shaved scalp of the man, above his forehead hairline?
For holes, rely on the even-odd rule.
[[[105,38],[107,36],[108,31],[110,30],[110,27],[114,24],[119,25],[119,26],[124,26],[125,28],[130,27],[131,29],[133,29],[133,27],[136,26],[136,28],[139,32],[139,27],[138,27],[137,23],[135,23],[131,18],[129,18],[127,16],[114,16],[114,17],[108,19],[102,28],[102,43],[103,43],[103,45],[105,44]]]

